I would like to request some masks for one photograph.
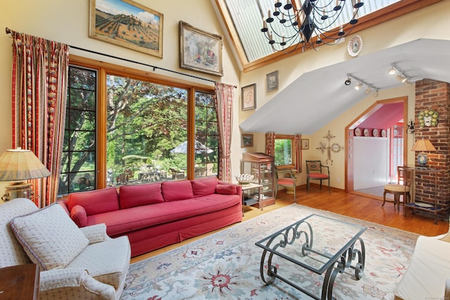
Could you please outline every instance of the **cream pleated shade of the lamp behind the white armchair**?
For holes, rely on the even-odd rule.
[[[50,176],[39,158],[30,150],[6,150],[0,156],[0,181],[23,181]]]

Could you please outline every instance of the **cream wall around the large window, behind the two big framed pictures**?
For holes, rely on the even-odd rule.
[[[224,36],[219,20],[210,0],[184,0],[184,1],[146,1],[134,0],[143,6],[149,7],[163,14],[163,57],[158,58],[146,53],[133,51],[128,48],[116,46],[89,38],[89,0],[14,0],[3,1],[0,10],[0,28],[10,28],[16,32],[24,32],[37,37],[44,37],[53,41],[63,42],[80,48],[91,49],[111,56],[136,60],[148,65],[164,67],[198,77],[221,81],[226,84],[238,86],[235,90],[233,115],[238,116],[239,111],[239,68],[231,54],[230,45],[224,40],[223,67],[224,76],[217,77],[203,72],[181,69],[179,67],[179,21],[183,20],[190,25],[213,34]],[[168,5],[172,3],[174,5]],[[201,18],[200,18],[201,16]],[[152,68],[122,60],[98,56],[71,49],[71,54],[102,60],[116,65],[124,65],[139,70],[153,72]],[[0,34],[0,154],[11,148],[11,37],[9,34]],[[187,81],[198,82],[214,86],[209,81],[184,77],[182,75],[156,70],[158,74],[176,77]],[[240,134],[238,118],[233,119],[233,137],[231,143],[231,160],[233,174],[240,172]],[[4,190],[0,183],[0,193]]]

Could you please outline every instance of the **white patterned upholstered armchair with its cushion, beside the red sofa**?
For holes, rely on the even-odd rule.
[[[119,299],[131,250],[106,226],[78,228],[60,204],[44,209],[25,198],[0,205],[0,267],[36,263],[39,299]]]

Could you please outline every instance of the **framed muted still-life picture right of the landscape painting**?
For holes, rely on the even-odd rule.
[[[224,76],[222,68],[223,37],[180,21],[180,67]]]

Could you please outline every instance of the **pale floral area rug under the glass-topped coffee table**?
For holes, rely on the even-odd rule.
[[[411,261],[418,235],[328,211],[292,204],[172,251],[131,264],[122,299],[311,299],[290,285],[262,282],[262,249],[255,242],[299,221],[320,214],[367,227],[364,276],[356,280],[346,268],[333,285],[336,299],[394,299],[394,291]],[[323,228],[327,232],[330,228]],[[278,272],[281,272],[279,268]],[[287,277],[321,295],[323,275],[295,266]],[[285,274],[287,275],[287,274]]]

